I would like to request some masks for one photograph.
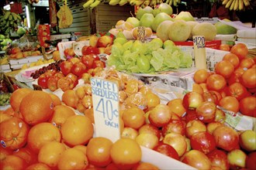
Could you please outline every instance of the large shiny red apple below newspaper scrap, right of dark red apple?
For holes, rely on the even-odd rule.
[[[215,138],[216,146],[225,151],[232,151],[239,145],[237,131],[225,125],[217,127],[213,131],[213,137]]]

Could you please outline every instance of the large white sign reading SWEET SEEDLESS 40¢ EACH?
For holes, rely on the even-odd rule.
[[[91,78],[96,137],[120,138],[119,88],[112,81]]]

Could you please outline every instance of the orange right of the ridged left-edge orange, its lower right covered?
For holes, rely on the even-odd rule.
[[[54,124],[43,122],[30,129],[27,145],[32,151],[39,153],[40,148],[49,141],[61,141],[61,132]]]

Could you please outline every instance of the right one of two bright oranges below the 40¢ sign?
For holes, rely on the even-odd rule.
[[[133,139],[120,138],[113,143],[110,156],[118,168],[132,168],[140,162],[142,151]]]

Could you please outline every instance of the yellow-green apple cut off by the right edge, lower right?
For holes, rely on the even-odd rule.
[[[256,133],[252,130],[243,131],[239,135],[240,147],[246,151],[256,151]]]

